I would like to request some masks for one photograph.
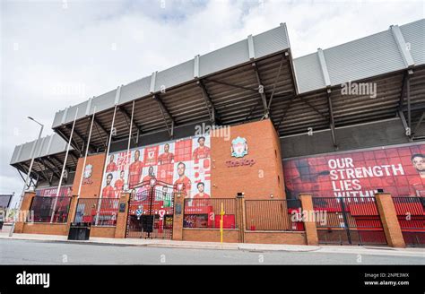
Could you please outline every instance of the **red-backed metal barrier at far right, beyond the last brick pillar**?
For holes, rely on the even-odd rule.
[[[393,197],[395,212],[407,246],[425,246],[425,198]]]

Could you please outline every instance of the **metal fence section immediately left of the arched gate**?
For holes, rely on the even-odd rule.
[[[119,199],[80,198],[74,222],[90,222],[93,226],[116,226]]]

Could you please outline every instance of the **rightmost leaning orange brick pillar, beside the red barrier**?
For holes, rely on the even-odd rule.
[[[402,229],[397,219],[397,212],[393,198],[388,193],[375,194],[377,199],[377,210],[381,217],[382,227],[386,234],[386,242],[388,246],[392,247],[405,247]]]

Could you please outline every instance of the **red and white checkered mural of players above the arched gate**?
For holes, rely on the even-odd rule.
[[[126,186],[143,195],[151,179],[167,183],[186,198],[211,195],[211,145],[209,135],[134,148],[108,154],[101,195],[117,198]],[[169,189],[169,187],[164,187]]]

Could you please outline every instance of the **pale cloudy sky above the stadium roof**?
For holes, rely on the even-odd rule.
[[[423,1],[0,0],[0,194],[15,145],[58,110],[286,22],[303,56],[424,18]]]

